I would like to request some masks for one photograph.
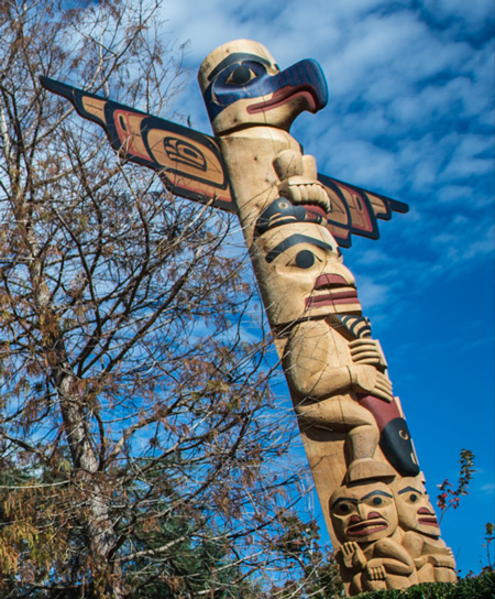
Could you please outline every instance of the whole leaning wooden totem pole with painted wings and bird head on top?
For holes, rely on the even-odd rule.
[[[315,61],[240,40],[204,61],[215,138],[42,77],[167,189],[237,213],[350,596],[455,580],[387,362],[340,247],[407,206],[320,175],[289,128],[327,104]]]

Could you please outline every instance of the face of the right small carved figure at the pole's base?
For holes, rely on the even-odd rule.
[[[417,478],[403,478],[394,483],[400,526],[429,536],[440,536],[437,515],[425,486]]]

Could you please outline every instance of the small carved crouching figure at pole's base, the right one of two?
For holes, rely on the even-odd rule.
[[[455,560],[440,538],[440,526],[419,478],[399,478],[393,486],[402,544],[414,558],[421,582],[454,582]]]

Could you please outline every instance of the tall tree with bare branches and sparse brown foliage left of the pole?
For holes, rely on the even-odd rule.
[[[0,7],[6,597],[254,597],[253,573],[297,577],[277,541],[301,494],[294,428],[246,333],[235,221],[122,164],[38,85],[163,112],[180,48],[161,44],[157,8]]]

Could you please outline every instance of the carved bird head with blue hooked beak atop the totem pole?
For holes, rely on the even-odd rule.
[[[288,131],[304,110],[327,104],[327,83],[315,61],[280,72],[265,46],[237,40],[209,54],[198,75],[215,133],[245,124],[271,124]]]

